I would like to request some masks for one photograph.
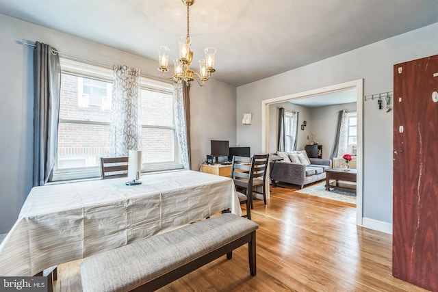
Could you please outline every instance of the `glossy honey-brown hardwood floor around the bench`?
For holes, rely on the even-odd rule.
[[[391,276],[391,235],[356,226],[349,204],[272,187],[251,215],[257,276],[245,245],[159,291],[426,291]],[[55,291],[81,291],[79,263],[58,267]]]

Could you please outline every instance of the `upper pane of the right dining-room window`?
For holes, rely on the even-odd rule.
[[[172,94],[142,89],[142,124],[173,127]]]

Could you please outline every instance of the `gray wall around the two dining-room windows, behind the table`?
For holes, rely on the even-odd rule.
[[[58,51],[104,64],[126,64],[159,76],[157,61],[105,47],[0,14],[0,234],[8,232],[32,185],[32,48],[21,40],[51,44]],[[175,42],[176,43],[176,42]],[[209,140],[235,144],[236,88],[208,81],[192,85],[192,169],[209,154]]]

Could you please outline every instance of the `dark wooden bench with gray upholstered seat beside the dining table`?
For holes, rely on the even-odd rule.
[[[256,274],[255,230],[246,218],[224,213],[168,233],[86,258],[84,292],[155,291],[248,243],[250,275]]]

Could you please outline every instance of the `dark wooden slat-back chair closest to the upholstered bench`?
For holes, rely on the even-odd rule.
[[[231,163],[231,178],[239,197],[240,204],[246,204],[246,215],[251,219],[251,204],[253,200],[253,168],[254,159],[252,157],[233,156]]]

